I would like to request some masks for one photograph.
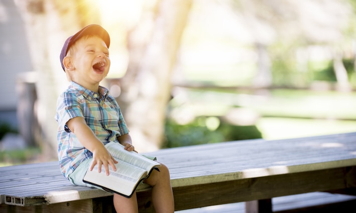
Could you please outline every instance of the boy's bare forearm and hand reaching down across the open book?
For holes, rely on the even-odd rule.
[[[101,172],[101,166],[104,166],[106,175],[109,175],[109,165],[116,171],[115,163],[117,161],[107,151],[104,144],[96,137],[90,127],[88,127],[84,118],[75,117],[70,119],[67,122],[67,127],[74,133],[79,142],[93,153],[93,162],[90,165],[90,171],[96,164],[98,165],[99,172]]]

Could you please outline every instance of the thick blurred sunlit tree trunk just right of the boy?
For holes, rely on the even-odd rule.
[[[161,146],[170,76],[191,2],[158,2],[156,8],[143,12],[139,25],[129,34],[130,62],[117,100],[135,147],[141,152]]]

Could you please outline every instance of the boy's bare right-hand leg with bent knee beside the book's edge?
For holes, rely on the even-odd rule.
[[[153,170],[150,177],[144,183],[151,185],[152,202],[158,213],[174,212],[174,198],[171,186],[171,178],[167,166],[159,167],[160,172]]]

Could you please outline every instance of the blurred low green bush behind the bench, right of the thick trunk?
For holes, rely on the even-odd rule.
[[[165,143],[163,148],[218,143],[224,141],[262,138],[256,126],[234,126],[220,123],[216,130],[209,130],[201,125],[199,119],[187,125],[179,125],[167,120],[165,126]]]

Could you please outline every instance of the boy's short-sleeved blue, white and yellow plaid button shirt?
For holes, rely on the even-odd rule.
[[[55,117],[58,123],[58,157],[61,172],[67,178],[81,162],[93,156],[68,129],[66,123],[70,119],[84,118],[104,145],[129,133],[120,108],[116,100],[108,95],[108,89],[100,86],[99,92],[101,95],[72,81],[58,97]]]

